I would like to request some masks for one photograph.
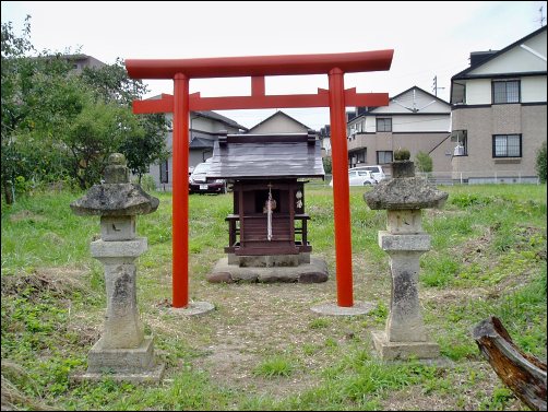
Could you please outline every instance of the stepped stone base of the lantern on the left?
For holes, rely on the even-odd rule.
[[[153,338],[147,337],[139,348],[105,349],[99,339],[87,355],[87,370],[71,376],[73,381],[126,380],[132,382],[159,382],[165,364],[154,356]]]

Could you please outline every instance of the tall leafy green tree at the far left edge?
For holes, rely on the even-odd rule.
[[[15,181],[50,176],[49,165],[62,160],[51,143],[55,130],[64,123],[61,119],[65,114],[80,109],[73,96],[53,93],[68,85],[67,61],[59,56],[29,56],[35,51],[28,39],[29,19],[26,17],[21,36],[13,33],[11,22],[2,23],[1,179],[8,204],[14,200]],[[71,109],[74,105],[76,108]]]

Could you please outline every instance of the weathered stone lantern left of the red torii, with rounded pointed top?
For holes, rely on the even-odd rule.
[[[130,183],[126,157],[114,153],[105,168],[105,183],[93,186],[71,203],[78,215],[100,216],[100,239],[92,242],[92,256],[105,267],[107,310],[102,338],[88,353],[87,372],[80,379],[159,380],[164,370],[154,356],[153,338],[145,337],[136,304],[135,259],[146,251],[138,237],[135,216],[158,208],[158,199]]]

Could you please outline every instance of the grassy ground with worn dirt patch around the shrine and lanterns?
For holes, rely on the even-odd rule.
[[[300,289],[205,281],[228,242],[230,193],[189,200],[190,297],[212,301],[216,310],[192,319],[170,315],[171,196],[153,193],[158,210],[138,217],[138,233],[148,240],[138,260],[138,301],[167,367],[158,386],[69,381],[85,369],[105,309],[103,267],[90,256],[99,219],[69,208],[82,193],[36,192],[2,203],[1,357],[12,385],[2,382],[2,397],[12,396],[5,399],[19,409],[60,410],[522,409],[488,374],[470,330],[497,316],[517,346],[546,360],[546,185],[439,189],[450,196],[443,210],[424,212],[432,248],[420,258],[419,290],[429,337],[451,367],[376,356],[370,332],[386,322],[391,276],[377,243],[385,212],[367,208],[369,189],[350,188],[353,264],[355,301],[376,308],[330,318],[310,307],[335,298],[334,276]],[[332,189],[308,185],[306,204],[313,251],[334,273]],[[219,356],[224,380],[209,373],[212,355]],[[223,368],[235,355],[237,370]],[[422,403],[397,403],[409,393]]]

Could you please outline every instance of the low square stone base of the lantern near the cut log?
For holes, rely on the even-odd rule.
[[[390,342],[386,332],[373,331],[373,345],[383,361],[429,360],[440,356],[440,346],[434,342]]]

